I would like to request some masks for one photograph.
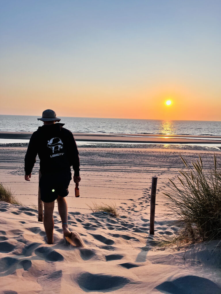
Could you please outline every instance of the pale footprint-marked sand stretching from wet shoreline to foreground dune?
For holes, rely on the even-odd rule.
[[[162,250],[154,246],[157,240],[164,240],[177,230],[165,215],[166,203],[161,201],[167,178],[174,178],[183,168],[179,153],[189,162],[199,152],[204,161],[213,154],[79,148],[80,198],[73,197],[74,186],[70,186],[67,196],[69,228],[78,232],[85,243],[85,248],[79,249],[64,242],[57,208],[55,242],[45,242],[44,226],[37,221],[37,211],[31,206],[37,204],[39,162],[31,183],[25,182],[25,152],[26,148],[21,147],[0,148],[0,181],[13,182],[5,185],[21,194],[17,198],[24,204],[0,203],[1,294],[221,293],[221,243],[214,241],[180,250],[176,246]],[[220,157],[219,152],[217,155]],[[158,176],[154,236],[149,235],[152,176]],[[91,213],[87,204],[93,201],[115,202],[120,217]]]

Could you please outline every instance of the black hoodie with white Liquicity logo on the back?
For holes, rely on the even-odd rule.
[[[44,125],[32,134],[24,158],[26,175],[32,172],[38,154],[42,174],[70,170],[72,166],[74,175],[79,176],[80,161],[77,145],[71,131],[63,126],[64,123]]]

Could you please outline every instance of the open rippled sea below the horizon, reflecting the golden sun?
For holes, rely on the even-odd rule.
[[[34,132],[39,116],[0,115],[0,131]],[[221,121],[170,121],[127,118],[60,117],[65,128],[78,133],[125,133],[221,136]]]

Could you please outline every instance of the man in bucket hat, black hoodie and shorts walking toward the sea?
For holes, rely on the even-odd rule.
[[[62,229],[65,237],[71,237],[72,233],[67,226],[67,202],[68,186],[71,180],[71,168],[74,170],[74,182],[79,183],[80,161],[77,145],[71,131],[63,128],[64,123],[57,123],[55,111],[47,109],[43,111],[44,125],[35,131],[29,142],[24,159],[25,180],[30,181],[32,168],[38,154],[40,159],[40,172],[42,174],[39,187],[41,200],[44,203],[44,228],[47,235],[47,243],[53,244],[54,219],[53,210],[57,199],[58,212],[62,221]]]

